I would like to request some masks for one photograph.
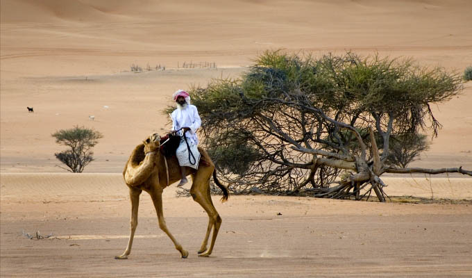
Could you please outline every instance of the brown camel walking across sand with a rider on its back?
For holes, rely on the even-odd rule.
[[[187,167],[186,170],[187,174],[192,175],[190,195],[192,195],[195,202],[199,203],[205,209],[206,213],[208,213],[208,218],[210,218],[205,238],[203,239],[198,254],[199,256],[210,256],[222,222],[210,197],[210,178],[212,174],[214,182],[223,191],[221,202],[228,200],[228,189],[218,181],[214,170],[214,163],[205,149],[199,147],[199,152],[201,153],[203,162],[201,161],[198,170],[194,170],[191,167]],[[120,256],[115,256],[115,259],[128,259],[131,252],[133,237],[137,227],[137,208],[139,206],[142,190],[151,195],[155,211],[158,214],[160,229],[172,240],[176,250],[180,252],[181,258],[187,258],[189,252],[183,249],[182,245],[177,242],[176,238],[174,238],[169,229],[167,229],[162,211],[162,191],[169,186],[169,184],[181,179],[180,166],[175,156],[166,158],[164,154],[160,152],[160,136],[157,133],[152,134],[146,138],[142,144],[135,147],[124,167],[123,177],[129,188],[131,200],[130,238],[124,253]],[[212,242],[210,243],[210,249],[207,250],[208,238],[212,228]]]

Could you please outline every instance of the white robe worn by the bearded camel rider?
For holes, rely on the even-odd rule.
[[[172,130],[176,131],[182,129],[183,127],[188,127],[190,130],[185,133],[187,137],[187,142],[190,147],[192,154],[189,154],[187,143],[184,138],[180,140],[180,145],[176,150],[176,156],[180,166],[188,166],[194,169],[199,167],[200,161],[200,152],[197,149],[199,144],[199,138],[196,137],[196,129],[199,129],[201,125],[201,120],[199,112],[196,110],[194,105],[186,105],[184,108],[176,109],[171,114],[172,117]],[[178,132],[180,136],[183,136],[183,131]]]

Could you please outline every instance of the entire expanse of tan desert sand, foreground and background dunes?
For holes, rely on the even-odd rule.
[[[165,216],[189,258],[160,231],[144,193],[130,259],[113,259],[129,230],[121,170],[135,145],[169,130],[162,110],[172,92],[237,78],[266,49],[412,57],[462,74],[472,65],[471,1],[0,3],[1,277],[472,275],[472,179],[455,174],[386,177],[397,201],[424,198],[407,203],[251,195],[221,204],[214,196],[223,224],[210,258],[196,256],[203,209],[171,186]],[[137,74],[133,64],[166,70]],[[469,82],[432,106],[444,127],[411,166],[472,168],[471,105]],[[104,136],[83,174],[53,155],[62,147],[51,133],[74,125]],[[53,236],[23,235],[35,231]]]

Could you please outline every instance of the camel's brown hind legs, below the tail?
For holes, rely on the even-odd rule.
[[[211,172],[210,172],[211,173]],[[199,250],[199,256],[210,256],[213,251],[214,242],[217,240],[219,227],[221,226],[221,217],[214,208],[211,195],[210,195],[210,175],[208,177],[198,177],[198,173],[194,176],[194,182],[190,194],[194,198],[195,202],[199,203],[208,214],[208,228],[203,239],[203,243]],[[210,231],[213,228],[212,242],[210,243],[210,249],[207,250],[208,238],[210,237]],[[206,251],[206,252],[205,252]],[[205,253],[203,253],[205,252]],[[202,254],[203,253],[203,254]]]

